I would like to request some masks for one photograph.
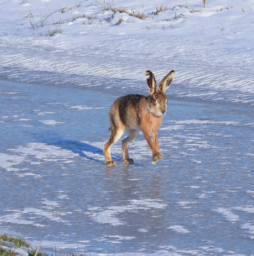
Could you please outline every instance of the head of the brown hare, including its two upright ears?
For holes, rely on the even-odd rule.
[[[167,111],[167,96],[165,92],[174,79],[174,71],[170,71],[161,80],[158,89],[154,74],[148,70],[145,75],[149,76],[147,79],[147,85],[150,88],[150,96],[148,97],[149,111],[155,116],[162,117]]]

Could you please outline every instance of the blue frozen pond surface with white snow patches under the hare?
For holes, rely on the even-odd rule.
[[[151,164],[140,134],[134,165],[119,141],[112,168],[102,149],[118,94],[0,81],[0,233],[57,253],[253,255],[253,106],[168,90],[163,159]]]

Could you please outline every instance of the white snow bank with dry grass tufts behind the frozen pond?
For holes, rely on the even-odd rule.
[[[114,90],[124,78],[136,81],[120,86],[129,92],[146,90],[146,70],[161,79],[173,69],[177,95],[199,96],[206,88],[253,103],[253,1],[213,0],[206,8],[201,0],[5,0],[1,6],[4,77],[100,88],[101,79],[111,78]]]

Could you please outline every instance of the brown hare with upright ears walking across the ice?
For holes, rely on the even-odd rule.
[[[104,145],[105,163],[107,165],[116,166],[111,158],[110,148],[116,143],[124,130],[128,133],[122,141],[122,154],[124,164],[133,164],[133,159],[129,158],[128,145],[134,142],[142,130],[150,149],[152,150],[152,164],[158,159],[162,159],[159,153],[158,145],[158,129],[161,127],[163,116],[167,111],[167,96],[164,94],[171,85],[174,78],[174,71],[169,72],[160,83],[157,89],[155,76],[151,71],[146,71],[145,75],[149,76],[147,85],[150,88],[148,97],[142,95],[126,95],[118,98],[109,111],[111,136]],[[152,134],[152,140],[150,137]]]

